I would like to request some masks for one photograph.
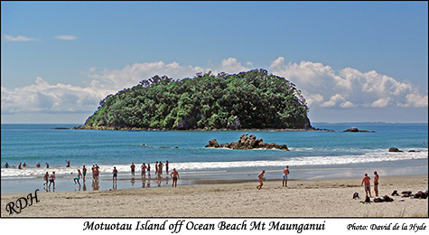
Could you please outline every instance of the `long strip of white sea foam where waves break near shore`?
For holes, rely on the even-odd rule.
[[[408,150],[405,150],[408,151]],[[284,166],[284,165],[338,165],[338,164],[365,164],[375,162],[387,161],[403,161],[411,159],[424,159],[428,158],[427,149],[418,149],[418,152],[403,152],[403,153],[389,153],[381,151],[371,151],[364,155],[328,155],[328,156],[295,156],[291,158],[284,158],[284,160],[277,161],[234,161],[234,162],[187,162],[187,163],[171,163],[170,171],[173,168],[180,169],[181,171],[191,170],[221,170],[228,168],[243,168],[243,167],[268,167],[268,166]],[[119,173],[130,172],[129,164],[100,164],[101,174],[110,174],[113,167],[116,166]],[[46,171],[50,174],[52,171],[59,177],[72,177],[76,176],[78,171],[77,167],[51,167],[46,168],[23,168],[22,170],[16,168],[2,168],[2,178],[36,178],[42,177]],[[90,169],[87,174],[91,174]],[[136,174],[140,174],[140,165],[136,164]],[[152,174],[154,174],[154,165],[152,166]]]

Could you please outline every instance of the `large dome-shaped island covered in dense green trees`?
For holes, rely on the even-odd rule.
[[[85,129],[312,128],[301,91],[265,70],[197,73],[192,79],[154,76],[108,95]]]

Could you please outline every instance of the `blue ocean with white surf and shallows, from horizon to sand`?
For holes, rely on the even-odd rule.
[[[381,175],[427,174],[427,124],[387,123],[313,123],[328,131],[102,131],[74,130],[76,125],[1,125],[2,192],[27,192],[35,183],[40,186],[46,171],[55,171],[57,191],[78,190],[73,183],[77,169],[100,166],[99,189],[112,188],[111,172],[116,166],[118,188],[147,186],[141,181],[140,165],[169,161],[170,169],[181,174],[182,184],[211,181],[253,181],[266,170],[269,180],[281,179],[285,165],[290,166],[292,179],[360,177],[377,170]],[[67,129],[56,129],[65,127]],[[350,127],[375,131],[346,133]],[[238,141],[248,133],[267,143],[287,145],[282,150],[230,150],[205,148],[210,139],[219,144]],[[404,152],[389,153],[395,146]],[[415,152],[409,152],[414,150]],[[70,160],[71,167],[65,167]],[[5,169],[5,163],[11,168]],[[20,163],[27,166],[17,169]],[[40,163],[41,168],[35,164]],[[46,168],[49,163],[50,168]],[[136,174],[131,177],[130,164]],[[171,171],[171,170],[170,170]],[[168,178],[163,174],[165,183]],[[90,178],[87,175],[87,178]],[[122,180],[122,181],[121,181]],[[87,180],[87,183],[89,181]],[[94,187],[87,187],[94,190]],[[95,187],[98,188],[98,187]],[[79,188],[80,190],[80,188]]]

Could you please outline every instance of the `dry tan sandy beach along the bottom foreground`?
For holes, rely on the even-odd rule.
[[[427,199],[394,196],[395,202],[361,203],[361,178],[322,181],[180,185],[90,192],[41,193],[40,202],[9,214],[6,204],[28,193],[2,193],[1,216],[6,217],[427,217]],[[372,182],[371,182],[372,183]],[[380,177],[379,196],[394,190],[425,191],[428,175]],[[353,200],[358,192],[360,200]],[[371,185],[373,193],[373,186]],[[30,193],[30,192],[29,192]],[[373,198],[372,198],[373,199]],[[404,202],[399,202],[404,199]]]

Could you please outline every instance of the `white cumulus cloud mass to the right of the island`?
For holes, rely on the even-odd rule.
[[[294,82],[303,91],[311,107],[403,107],[428,106],[427,95],[406,82],[395,80],[377,71],[362,72],[352,68],[335,71],[320,62],[271,62],[270,70]]]

